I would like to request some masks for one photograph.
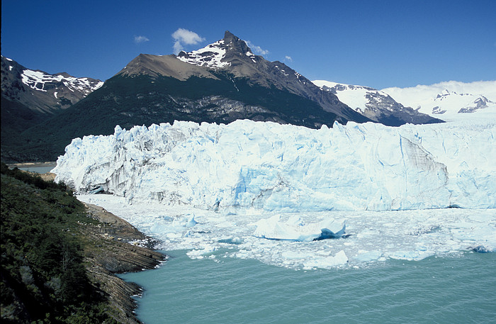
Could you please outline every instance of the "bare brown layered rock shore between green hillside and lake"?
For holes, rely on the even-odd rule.
[[[109,313],[115,320],[140,323],[134,314],[137,305],[132,296],[142,294],[141,287],[115,274],[154,269],[166,256],[153,250],[157,240],[142,234],[130,223],[99,206],[84,205],[88,215],[100,221],[98,225],[81,224],[90,279],[106,294],[112,310]]]

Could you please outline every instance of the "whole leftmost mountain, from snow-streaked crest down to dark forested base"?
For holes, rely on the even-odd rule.
[[[26,140],[21,133],[43,123],[76,104],[103,84],[100,80],[69,74],[49,74],[27,69],[1,57],[1,156],[2,160],[32,160],[18,145]]]

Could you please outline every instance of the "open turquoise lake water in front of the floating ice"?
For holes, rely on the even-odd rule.
[[[145,289],[144,323],[496,323],[495,253],[296,271],[186,252],[123,274]]]

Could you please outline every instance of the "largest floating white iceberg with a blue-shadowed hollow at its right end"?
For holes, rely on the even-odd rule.
[[[257,226],[254,236],[270,240],[310,242],[346,236],[344,233],[346,225],[343,220],[325,219],[318,223],[305,224],[297,216],[283,222],[280,215],[275,215],[250,225]]]

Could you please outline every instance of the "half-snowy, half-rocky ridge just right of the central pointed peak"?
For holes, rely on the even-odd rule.
[[[440,123],[438,118],[419,113],[410,107],[399,104],[384,91],[376,90],[368,86],[356,86],[350,84],[339,84],[325,80],[312,81],[320,86],[322,90],[330,91],[344,104],[384,125],[399,126],[404,123],[424,124]]]

